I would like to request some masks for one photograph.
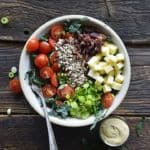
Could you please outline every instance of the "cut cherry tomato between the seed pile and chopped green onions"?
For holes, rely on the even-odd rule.
[[[67,85],[63,89],[58,89],[57,90],[58,96],[60,96],[62,99],[66,99],[66,96],[73,96],[74,95],[74,88]]]

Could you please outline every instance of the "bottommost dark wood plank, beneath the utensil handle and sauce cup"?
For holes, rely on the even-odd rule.
[[[150,118],[146,118],[143,132],[137,137],[135,126],[140,119],[140,117],[126,117],[130,127],[130,137],[125,145],[129,150],[150,149]],[[89,127],[65,128],[57,125],[53,127],[60,150],[85,150],[81,142],[83,138],[87,139],[89,146],[92,144],[102,150],[108,149],[100,141],[97,130],[91,132]],[[0,116],[0,133],[0,149],[48,150],[46,124],[39,116]]]

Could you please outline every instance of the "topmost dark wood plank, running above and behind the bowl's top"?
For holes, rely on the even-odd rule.
[[[149,0],[1,0],[0,17],[9,16],[10,24],[0,25],[0,40],[25,41],[54,17],[82,14],[108,23],[126,42],[150,44],[149,4]]]

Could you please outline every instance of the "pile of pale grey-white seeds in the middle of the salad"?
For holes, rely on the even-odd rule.
[[[60,39],[55,49],[59,54],[59,64],[62,70],[64,70],[68,79],[73,87],[82,85],[87,81],[85,76],[87,68],[85,67],[85,60],[82,55],[77,52],[76,47],[73,45],[72,41],[66,41]]]

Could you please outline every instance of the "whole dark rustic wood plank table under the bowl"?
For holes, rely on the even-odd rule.
[[[131,134],[122,150],[150,150],[150,1],[149,0],[0,0],[0,150],[48,150],[45,120],[24,96],[8,88],[8,72],[18,66],[20,53],[30,34],[46,21],[65,14],[101,19],[123,39],[131,59],[132,79],[124,102],[113,113],[125,117]],[[12,115],[7,115],[7,109]],[[135,127],[145,117],[139,136]],[[53,125],[59,150],[107,150],[89,127]]]

